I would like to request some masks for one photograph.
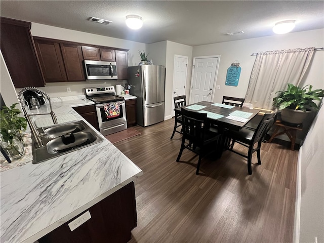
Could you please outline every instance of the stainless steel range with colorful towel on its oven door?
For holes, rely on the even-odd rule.
[[[100,133],[109,135],[127,129],[125,99],[113,86],[86,88],[87,99],[95,102]]]

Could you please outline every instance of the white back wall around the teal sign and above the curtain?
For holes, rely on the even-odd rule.
[[[221,102],[224,95],[244,98],[248,89],[249,79],[255,56],[252,53],[271,50],[315,47],[324,45],[324,29],[288,33],[284,35],[244,39],[193,47],[193,57],[221,55],[216,83],[221,86],[215,90],[214,102]],[[238,86],[225,86],[227,68],[237,60],[240,63],[241,74]],[[324,51],[315,51],[313,62],[306,74],[304,84],[314,88],[324,88]]]

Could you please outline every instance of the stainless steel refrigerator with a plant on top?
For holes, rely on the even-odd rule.
[[[164,66],[139,65],[129,67],[130,94],[137,97],[137,124],[146,127],[164,120]]]

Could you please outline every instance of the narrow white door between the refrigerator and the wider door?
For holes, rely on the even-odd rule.
[[[171,116],[175,116],[173,98],[186,92],[188,57],[174,55]]]

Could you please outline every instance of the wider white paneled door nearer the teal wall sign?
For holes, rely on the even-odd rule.
[[[193,58],[189,104],[213,100],[219,58],[220,56]]]

